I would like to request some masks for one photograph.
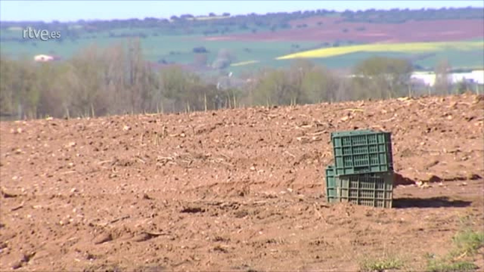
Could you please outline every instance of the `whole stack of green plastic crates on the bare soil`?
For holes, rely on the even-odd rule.
[[[393,155],[390,132],[340,131],[331,134],[334,165],[326,167],[328,202],[392,208]]]

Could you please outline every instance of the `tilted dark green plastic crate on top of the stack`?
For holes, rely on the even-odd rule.
[[[331,140],[336,176],[393,171],[390,132],[340,131]]]

